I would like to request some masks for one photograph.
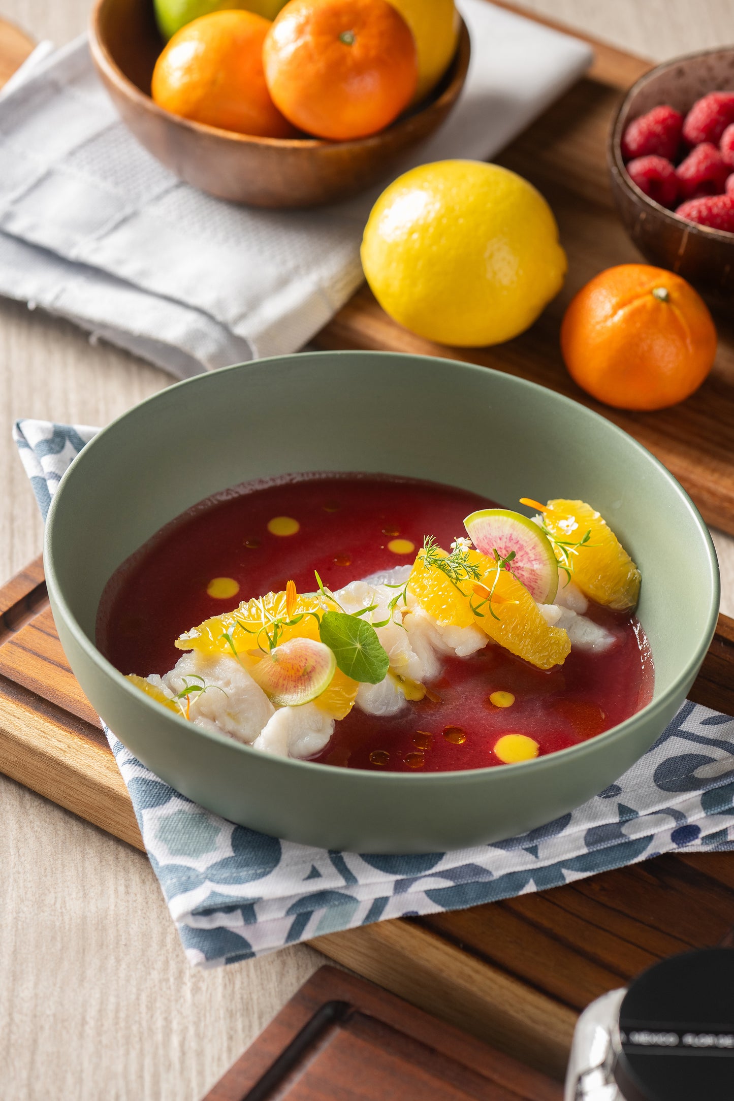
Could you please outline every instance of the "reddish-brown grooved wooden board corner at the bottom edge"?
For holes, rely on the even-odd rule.
[[[561,1101],[558,1082],[322,967],[204,1101]]]

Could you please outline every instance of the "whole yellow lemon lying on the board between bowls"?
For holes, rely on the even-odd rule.
[[[418,336],[475,348],[523,333],[558,294],[566,253],[543,195],[496,164],[438,161],[383,192],[362,240],[383,309]]]

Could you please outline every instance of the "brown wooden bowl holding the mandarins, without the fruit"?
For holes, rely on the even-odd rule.
[[[98,0],[90,19],[91,56],[135,138],[188,184],[222,199],[262,207],[308,207],[347,199],[390,174],[398,157],[428,138],[459,98],[471,46],[461,23],[447,74],[417,109],[371,138],[255,138],[164,111],[150,96],[163,41],[152,0]]]

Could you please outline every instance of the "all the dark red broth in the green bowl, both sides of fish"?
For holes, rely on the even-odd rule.
[[[280,591],[289,579],[298,591],[314,591],[315,570],[338,589],[409,564],[424,535],[448,547],[463,533],[465,515],[493,505],[467,490],[380,475],[237,487],[184,513],[123,563],[100,601],[98,645],[122,673],[164,674],[180,657],[179,634],[240,600]],[[298,532],[271,534],[275,516],[297,520]],[[387,544],[396,537],[416,550],[393,554]],[[233,578],[240,591],[226,600],[208,596],[215,577]],[[471,657],[447,658],[424,700],[383,718],[354,707],[313,760],[383,772],[480,768],[502,763],[493,746],[505,733],[534,738],[546,754],[610,729],[648,702],[651,662],[634,617],[596,606],[589,614],[615,635],[606,653],[572,651],[548,672],[493,643]],[[489,696],[499,690],[515,702],[495,707]]]

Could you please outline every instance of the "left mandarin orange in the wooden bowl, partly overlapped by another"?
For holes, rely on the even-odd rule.
[[[151,94],[173,115],[261,138],[291,138],[265,84],[271,22],[251,11],[215,11],[183,26],[155,63]]]

